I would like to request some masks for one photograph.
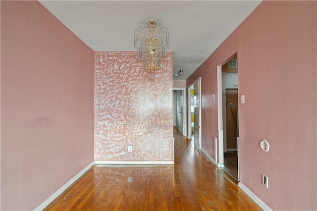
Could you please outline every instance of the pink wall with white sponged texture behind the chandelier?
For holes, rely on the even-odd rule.
[[[173,161],[172,54],[157,72],[136,61],[137,52],[95,52],[96,161]]]

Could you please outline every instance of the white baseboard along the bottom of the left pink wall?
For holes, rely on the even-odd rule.
[[[52,196],[50,196],[47,200],[45,200],[39,207],[35,208],[35,211],[42,211],[46,208],[51,202],[54,201],[60,194],[62,194],[69,186],[71,186],[79,177],[81,177],[88,169],[90,169],[95,164],[95,161],[87,165],[83,170],[81,170],[76,176],[71,178],[66,184],[64,184],[61,188],[59,188]]]

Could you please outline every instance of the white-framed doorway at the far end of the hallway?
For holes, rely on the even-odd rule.
[[[185,89],[173,89],[173,127],[177,127],[183,136],[187,136],[185,96]]]

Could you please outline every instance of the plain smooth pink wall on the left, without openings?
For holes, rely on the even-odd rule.
[[[33,210],[94,160],[94,52],[38,1],[1,1],[1,210]]]

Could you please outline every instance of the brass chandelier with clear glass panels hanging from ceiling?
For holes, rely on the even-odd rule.
[[[139,58],[143,59],[144,69],[156,71],[169,49],[169,31],[151,20],[147,26],[134,30],[134,47],[139,51]]]

